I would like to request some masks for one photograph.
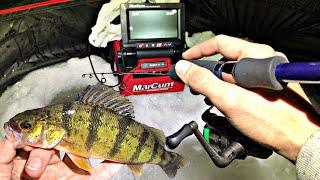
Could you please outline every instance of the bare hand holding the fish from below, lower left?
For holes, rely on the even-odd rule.
[[[60,160],[57,151],[30,147],[26,149],[29,152],[22,149],[16,152],[11,142],[7,139],[0,140],[0,179],[89,179],[89,177],[91,179],[111,179],[123,166],[115,163],[102,163],[89,176],[84,171],[72,169],[73,164],[67,156]]]

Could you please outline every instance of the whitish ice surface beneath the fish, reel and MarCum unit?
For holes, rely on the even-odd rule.
[[[98,72],[110,70],[109,65],[98,57],[93,57],[93,62]],[[74,99],[76,92],[88,84],[96,84],[95,79],[81,77],[88,72],[91,72],[88,59],[74,58],[30,73],[0,97],[1,127],[19,112]],[[108,84],[115,83],[113,76],[108,76]],[[137,121],[162,129],[166,135],[191,120],[197,121],[200,127],[204,125],[200,115],[207,106],[202,96],[193,96],[188,89],[183,93],[131,96],[130,100],[134,104]],[[176,152],[190,160],[188,167],[178,171],[175,179],[179,180],[295,179],[294,166],[278,155],[267,160],[247,158],[235,161],[225,169],[219,169],[211,163],[194,137],[186,139]],[[141,176],[134,175],[125,166],[113,179],[169,179],[158,166],[145,165],[143,170]]]

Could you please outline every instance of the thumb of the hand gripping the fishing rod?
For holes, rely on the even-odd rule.
[[[181,60],[175,70],[180,79],[190,88],[210,99],[223,112],[234,111],[239,103],[255,101],[252,93],[235,85],[218,79],[208,69]],[[256,97],[255,97],[256,98]],[[248,100],[249,99],[249,100]]]

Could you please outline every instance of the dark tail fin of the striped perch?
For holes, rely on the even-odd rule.
[[[165,152],[166,160],[160,163],[160,167],[167,174],[168,177],[174,178],[178,169],[185,167],[189,162],[181,155],[174,152]]]

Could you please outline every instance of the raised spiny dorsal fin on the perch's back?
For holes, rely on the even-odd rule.
[[[80,94],[79,102],[99,105],[120,115],[134,118],[132,103],[119,92],[103,84],[88,86]]]

